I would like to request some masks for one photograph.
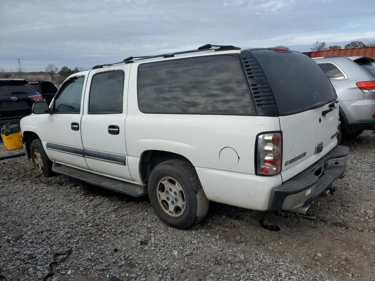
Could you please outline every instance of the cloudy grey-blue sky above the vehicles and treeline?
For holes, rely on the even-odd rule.
[[[196,49],[207,43],[344,46],[375,40],[374,0],[0,0],[0,70],[26,72]]]

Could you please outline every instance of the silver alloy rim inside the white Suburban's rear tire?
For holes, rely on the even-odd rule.
[[[180,217],[185,211],[185,194],[174,178],[165,176],[159,180],[156,198],[162,210],[171,217]]]

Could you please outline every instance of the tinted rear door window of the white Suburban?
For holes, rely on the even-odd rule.
[[[89,113],[122,113],[124,72],[95,74],[91,81]]]

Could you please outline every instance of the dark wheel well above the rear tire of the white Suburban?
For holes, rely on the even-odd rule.
[[[139,175],[141,176],[142,182],[144,184],[147,184],[150,173],[157,164],[171,159],[180,159],[192,164],[191,161],[183,155],[170,151],[146,150],[142,152],[141,158],[139,160]]]

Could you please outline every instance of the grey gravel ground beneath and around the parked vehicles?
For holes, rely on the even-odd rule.
[[[290,212],[211,203],[201,224],[172,229],[147,196],[37,177],[26,156],[0,160],[0,280],[42,280],[69,249],[48,280],[374,280],[374,136],[343,142],[347,176],[312,206],[317,228]]]

